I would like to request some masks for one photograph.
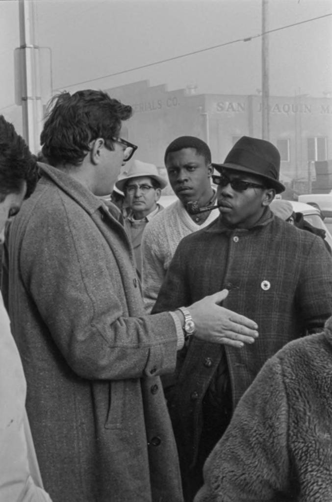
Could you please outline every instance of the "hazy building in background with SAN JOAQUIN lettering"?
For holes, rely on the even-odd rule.
[[[241,136],[262,137],[259,94],[197,94],[194,86],[168,91],[165,85],[150,87],[148,81],[106,91],[133,106],[130,141],[139,145],[137,157],[156,164],[162,173],[165,149],[178,136],[204,140],[214,162],[224,161]],[[270,96],[269,105],[270,141],[282,159],[280,179],[296,192],[311,191],[314,161],[332,159],[332,98]],[[326,169],[329,173],[332,163]]]

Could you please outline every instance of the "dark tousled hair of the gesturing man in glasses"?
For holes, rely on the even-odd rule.
[[[63,92],[54,96],[48,106],[47,119],[40,136],[42,154],[52,166],[79,165],[97,138],[107,141],[119,135],[122,120],[131,117],[133,109],[100,90]]]

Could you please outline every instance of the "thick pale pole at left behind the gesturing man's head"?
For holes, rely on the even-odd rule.
[[[22,105],[23,136],[32,153],[40,149],[43,108],[39,47],[32,0],[20,0],[20,48],[16,49],[17,104]]]

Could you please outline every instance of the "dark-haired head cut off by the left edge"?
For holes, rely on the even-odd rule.
[[[37,159],[13,124],[0,115],[0,242],[6,222],[20,210],[38,181]]]

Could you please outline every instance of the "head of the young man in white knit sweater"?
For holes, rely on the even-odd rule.
[[[176,138],[165,151],[168,179],[182,204],[197,201],[204,206],[213,197],[211,152],[206,143],[193,136]]]

